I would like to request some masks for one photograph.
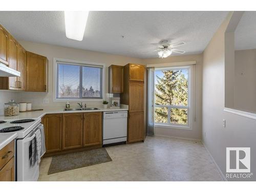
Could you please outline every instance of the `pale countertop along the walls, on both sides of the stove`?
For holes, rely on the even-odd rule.
[[[24,112],[19,113],[16,116],[0,116],[0,120],[18,120],[18,119],[29,119],[29,118],[41,118],[46,114],[56,114],[56,113],[89,113],[89,112],[111,112],[111,111],[127,111],[128,106],[122,105],[120,109],[103,109],[98,108],[98,110],[86,110],[86,111],[64,111],[64,108],[45,108],[42,111]],[[17,137],[15,132],[13,133],[0,133],[0,150],[10,143],[13,139]]]

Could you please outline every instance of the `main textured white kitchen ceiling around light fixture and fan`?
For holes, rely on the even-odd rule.
[[[93,11],[82,41],[66,37],[64,13],[59,11],[1,11],[0,24],[18,40],[149,58],[157,57],[153,50],[163,39],[185,41],[179,49],[186,54],[202,53],[227,13]]]

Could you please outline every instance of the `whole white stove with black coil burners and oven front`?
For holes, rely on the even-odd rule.
[[[24,122],[29,121],[29,122]],[[41,119],[17,119],[0,121],[0,134],[16,133],[15,139],[15,178],[16,181],[37,181],[39,176],[39,163],[36,160],[31,164],[32,140],[35,138],[35,131],[40,129],[41,147],[45,147],[44,125]],[[17,131],[16,131],[17,130]],[[6,133],[2,133],[2,132]],[[42,144],[44,143],[44,144]],[[45,153],[45,150],[44,150]],[[44,155],[44,153],[41,153]]]

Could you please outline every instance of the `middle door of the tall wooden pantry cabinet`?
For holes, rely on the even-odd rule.
[[[129,112],[144,111],[144,82],[129,83]]]

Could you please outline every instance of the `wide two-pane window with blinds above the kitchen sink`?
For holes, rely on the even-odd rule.
[[[57,99],[102,99],[103,67],[56,61]]]

